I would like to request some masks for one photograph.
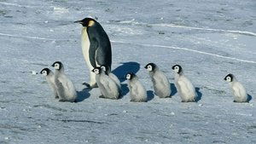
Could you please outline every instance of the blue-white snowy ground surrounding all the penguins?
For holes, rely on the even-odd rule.
[[[256,143],[256,2],[254,0],[0,0],[0,143]],[[113,46],[118,101],[99,99],[80,46],[91,16]],[[44,77],[61,60],[79,91],[78,103],[54,99]],[[172,83],[171,99],[153,95],[154,62]],[[172,65],[180,64],[201,93],[181,103]],[[137,72],[147,103],[131,103],[125,72]],[[253,96],[233,103],[223,78],[236,75]]]

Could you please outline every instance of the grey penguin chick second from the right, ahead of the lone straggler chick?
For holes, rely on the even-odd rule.
[[[175,76],[174,76],[175,86],[177,88],[177,92],[179,93],[182,99],[182,102],[195,101],[196,99],[195,87],[189,81],[189,79],[183,75],[182,66],[179,66],[179,65],[172,66],[172,70],[175,73]]]

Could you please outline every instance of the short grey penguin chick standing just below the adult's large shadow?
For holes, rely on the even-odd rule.
[[[139,81],[137,76],[130,72],[127,73],[125,78],[128,80],[128,86],[131,95],[132,102],[147,102],[148,97],[146,93],[146,89],[143,84]]]

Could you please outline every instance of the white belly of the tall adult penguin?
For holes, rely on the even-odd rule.
[[[88,37],[87,28],[83,27],[82,29],[82,51],[84,55],[84,60],[86,61],[87,66],[89,66],[90,70],[93,69],[93,66],[90,64],[90,57],[89,57],[89,49],[90,49],[90,39]]]

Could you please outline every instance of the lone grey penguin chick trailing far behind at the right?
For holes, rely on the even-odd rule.
[[[233,91],[234,102],[247,102],[248,96],[247,96],[247,90],[244,88],[244,86],[239,83],[236,79],[236,77],[233,74],[228,74],[225,78],[225,81],[229,82],[230,87]]]

